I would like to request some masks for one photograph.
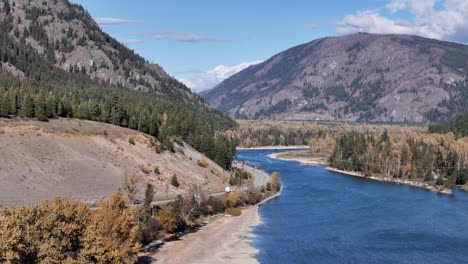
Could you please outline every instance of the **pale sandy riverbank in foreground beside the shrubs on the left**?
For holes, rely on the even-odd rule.
[[[262,223],[259,207],[279,196],[281,191],[257,205],[242,210],[240,216],[222,215],[198,232],[184,236],[180,241],[166,243],[151,255],[152,263],[178,264],[256,264],[259,252],[250,243],[252,228]]]

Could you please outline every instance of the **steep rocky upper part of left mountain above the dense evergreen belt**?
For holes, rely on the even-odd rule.
[[[22,80],[61,80],[67,85],[76,76],[85,76],[100,85],[151,92],[212,112],[159,65],[103,32],[80,5],[67,0],[1,0],[0,23],[0,72],[4,74]]]

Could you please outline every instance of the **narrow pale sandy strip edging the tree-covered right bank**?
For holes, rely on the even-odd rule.
[[[320,157],[313,157],[307,151],[290,151],[290,152],[272,153],[272,154],[269,154],[268,157],[273,158],[273,159],[279,159],[279,160],[298,161],[304,165],[322,166],[322,167],[325,167],[329,171],[334,171],[340,174],[345,174],[345,175],[354,176],[354,177],[361,177],[361,178],[371,179],[375,181],[382,181],[382,182],[392,182],[396,184],[405,184],[405,185],[409,185],[413,187],[423,188],[432,192],[448,194],[448,195],[451,195],[453,193],[452,190],[450,189],[447,189],[444,187],[437,187],[437,186],[428,184],[423,181],[412,181],[412,180],[406,180],[406,179],[397,179],[393,177],[381,177],[378,175],[372,175],[372,176],[366,177],[360,172],[344,171],[344,170],[332,168],[328,166],[329,164],[325,159],[320,158]]]

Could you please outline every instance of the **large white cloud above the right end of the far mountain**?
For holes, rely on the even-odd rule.
[[[391,12],[409,11],[412,17],[398,20],[377,10],[357,12],[337,23],[337,32],[415,34],[430,38],[468,42],[468,1],[445,0],[437,9],[435,0],[392,0],[386,5]]]

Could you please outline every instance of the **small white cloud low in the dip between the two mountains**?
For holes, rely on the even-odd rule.
[[[241,70],[261,63],[262,61],[243,62],[234,66],[218,65],[209,71],[190,71],[189,77],[180,79],[185,85],[195,92],[201,92],[213,88],[221,81],[231,77]]]

